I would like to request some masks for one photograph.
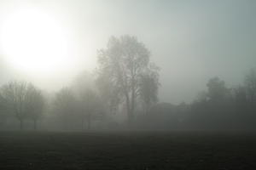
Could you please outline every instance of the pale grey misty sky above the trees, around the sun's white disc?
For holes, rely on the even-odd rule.
[[[160,101],[190,102],[215,76],[235,86],[256,66],[253,0],[0,0],[0,28],[8,14],[25,6],[49,13],[68,32],[74,63],[63,72],[36,75],[15,70],[0,51],[2,83],[24,77],[43,89],[61,88],[81,71],[93,71],[96,50],[124,34],[144,42],[160,66]]]

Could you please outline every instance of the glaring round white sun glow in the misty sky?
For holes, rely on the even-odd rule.
[[[49,74],[67,69],[73,61],[67,31],[38,9],[10,14],[0,30],[0,43],[8,61],[22,71]]]

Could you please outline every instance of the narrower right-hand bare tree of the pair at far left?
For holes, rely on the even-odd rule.
[[[26,113],[28,118],[34,122],[34,129],[37,129],[38,119],[43,115],[45,99],[42,92],[32,84],[27,87]]]

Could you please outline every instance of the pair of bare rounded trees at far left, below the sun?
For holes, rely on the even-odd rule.
[[[1,88],[0,94],[1,118],[15,116],[24,127],[24,120],[31,119],[37,128],[38,118],[44,112],[45,100],[42,92],[32,83],[9,82]]]

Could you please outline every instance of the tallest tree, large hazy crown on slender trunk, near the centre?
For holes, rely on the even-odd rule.
[[[99,77],[108,78],[111,87],[125,99],[128,122],[134,121],[140,79],[150,70],[149,51],[136,37],[111,37],[106,49],[98,53]]]

